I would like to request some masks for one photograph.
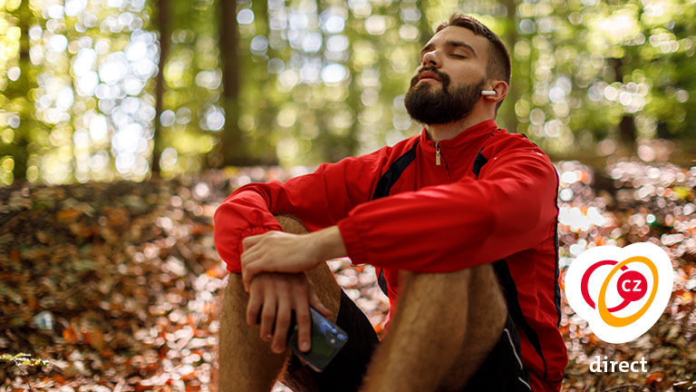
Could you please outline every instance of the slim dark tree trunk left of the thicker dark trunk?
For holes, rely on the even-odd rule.
[[[163,111],[164,97],[164,67],[167,64],[167,55],[169,54],[169,0],[158,1],[157,25],[160,29],[160,62],[158,64],[158,73],[155,78],[155,131],[152,136],[152,174],[160,175],[160,158],[164,151],[164,143],[162,137],[162,123],[160,116]]]

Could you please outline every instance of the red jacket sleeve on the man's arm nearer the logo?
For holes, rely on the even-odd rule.
[[[510,141],[510,139],[507,139]],[[557,175],[531,142],[487,148],[478,180],[398,193],[338,223],[353,263],[448,272],[534,247],[556,224]]]

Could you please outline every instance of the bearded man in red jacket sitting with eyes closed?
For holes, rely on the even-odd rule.
[[[560,389],[557,177],[536,145],[494,122],[509,80],[498,35],[453,15],[406,94],[420,136],[222,203],[216,244],[233,272],[222,390],[269,390],[278,378],[295,390]],[[344,256],[374,265],[389,296],[379,344],[324,263]],[[309,349],[308,304],[350,337],[323,373],[285,348],[294,311]]]

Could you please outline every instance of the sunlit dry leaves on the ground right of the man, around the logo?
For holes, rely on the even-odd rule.
[[[585,320],[563,299],[561,331],[570,364],[564,390],[693,390],[696,386],[696,167],[615,162],[606,174],[577,162],[560,162],[559,240],[561,268],[582,251],[599,245],[649,241],[667,251],[675,270],[672,299],[662,318],[642,338],[621,345],[594,337]],[[597,178],[594,178],[597,177]],[[594,187],[590,185],[594,184]],[[640,360],[648,373],[590,373],[595,356]],[[639,386],[639,387],[635,387]],[[645,388],[647,387],[647,389]]]

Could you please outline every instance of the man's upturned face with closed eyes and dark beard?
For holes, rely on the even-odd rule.
[[[420,52],[420,66],[404,103],[411,118],[426,124],[456,122],[478,103],[487,82],[488,40],[449,26]]]

